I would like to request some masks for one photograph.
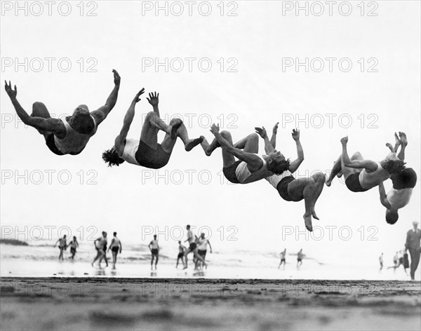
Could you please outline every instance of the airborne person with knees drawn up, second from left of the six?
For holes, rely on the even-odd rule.
[[[134,165],[142,165],[145,168],[159,169],[165,166],[170,160],[171,153],[177,137],[180,137],[185,144],[185,150],[191,151],[193,147],[200,144],[203,137],[189,139],[187,129],[180,119],[172,119],[170,125],[166,125],[159,117],[159,93],[149,93],[149,104],[152,104],[153,112],[146,115],[143,123],[140,140],[128,139],[127,134],[135,116],[135,105],[140,101],[140,95],[144,93],[142,88],[135,95],[130,107],[124,117],[123,127],[120,134],[114,141],[114,147],[102,153],[102,159],[109,166],[119,165],[124,161]],[[158,133],[162,130],[166,133],[161,144],[158,143]]]

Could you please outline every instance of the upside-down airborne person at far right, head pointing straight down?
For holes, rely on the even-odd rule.
[[[399,137],[395,133],[395,146],[392,147],[392,144],[387,143],[386,146],[389,147],[390,151],[396,153],[399,146],[401,146],[401,151],[399,151],[398,158],[404,160],[405,158],[405,149],[408,145],[408,140],[406,139],[406,134],[399,132]],[[413,193],[413,188],[417,184],[417,174],[413,168],[405,168],[399,173],[395,173],[390,178],[393,183],[392,189],[389,192],[385,191],[385,186],[383,183],[379,184],[379,194],[380,194],[380,203],[386,208],[386,222],[389,224],[395,224],[399,218],[398,210],[405,207]]]

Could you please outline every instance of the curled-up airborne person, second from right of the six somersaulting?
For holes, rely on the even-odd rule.
[[[333,165],[326,185],[330,187],[335,176],[345,177],[345,184],[350,191],[365,192],[376,187],[381,182],[388,180],[391,175],[401,172],[405,168],[404,162],[396,153],[387,154],[380,162],[365,160],[357,151],[349,158],[347,151],[348,137],[340,140],[342,144],[342,155]]]

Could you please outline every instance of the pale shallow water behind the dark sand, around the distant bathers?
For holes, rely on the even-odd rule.
[[[0,276],[13,277],[123,277],[123,278],[262,278],[262,279],[338,279],[338,280],[399,280],[408,281],[401,266],[396,271],[387,270],[387,263],[380,272],[378,264],[324,257],[323,261],[305,257],[302,266],[296,266],[294,255],[287,255],[285,269],[279,265],[278,252],[253,250],[216,251],[206,256],[208,268],[194,271],[192,255],[189,268],[182,270],[182,264],[175,268],[177,247],[168,254],[161,252],[156,271],[151,271],[150,252],[147,245],[123,245],[118,255],[116,269],[112,269],[112,255],[107,254],[109,266],[98,266],[91,262],[96,255],[93,243],[79,243],[74,260],[69,259],[69,248],[65,260],[58,261],[59,250],[47,241],[29,246],[0,244]],[[419,270],[418,270],[419,271]],[[409,270],[408,270],[409,273]],[[420,279],[417,272],[416,279]]]

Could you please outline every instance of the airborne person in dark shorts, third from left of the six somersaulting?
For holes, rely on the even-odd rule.
[[[215,135],[215,140],[209,144],[203,138],[201,143],[207,156],[222,147],[222,171],[225,178],[234,184],[248,184],[257,182],[273,174],[281,175],[289,167],[289,161],[279,152],[274,151],[267,155],[259,156],[259,137],[252,133],[236,144],[232,143],[228,131],[219,132],[219,125],[213,124],[210,132]],[[239,161],[236,161],[239,158]]]

